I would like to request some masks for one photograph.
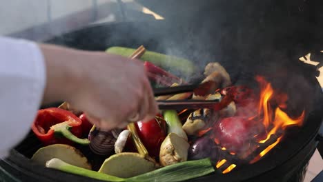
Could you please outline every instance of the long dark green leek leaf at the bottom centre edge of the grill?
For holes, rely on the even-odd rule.
[[[126,179],[126,181],[185,181],[215,172],[210,159],[186,161],[168,165],[152,172]]]

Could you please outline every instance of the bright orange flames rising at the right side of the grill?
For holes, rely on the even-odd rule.
[[[259,161],[264,155],[275,148],[280,141],[282,141],[286,128],[295,125],[301,126],[305,117],[304,110],[299,117],[289,117],[288,114],[284,112],[284,109],[287,108],[287,94],[278,93],[273,90],[271,83],[268,83],[264,77],[257,76],[256,80],[260,83],[260,98],[258,107],[255,107],[255,115],[252,117],[249,116],[248,120],[255,121],[256,123],[263,125],[263,132],[253,134],[253,143],[250,144],[250,148],[244,150],[242,153],[240,152],[236,154],[228,151],[227,148],[221,148],[223,151],[228,151],[231,155],[239,156],[242,160],[251,156],[251,159],[248,159],[248,163]],[[272,103],[275,103],[275,107],[273,107]],[[221,145],[221,141],[219,141],[219,139],[215,138],[214,141],[217,145]],[[256,151],[258,153],[256,153]],[[219,169],[228,161],[230,161],[230,159],[219,160],[216,168]],[[231,165],[223,170],[222,173],[226,174],[231,172],[235,167],[236,165],[231,163]]]

